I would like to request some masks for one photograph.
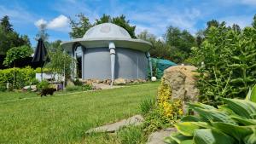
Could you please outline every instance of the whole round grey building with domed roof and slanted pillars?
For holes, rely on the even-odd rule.
[[[148,66],[152,73],[151,43],[131,38],[112,23],[93,26],[84,37],[61,43],[61,47],[78,61],[73,77],[111,79],[113,84],[115,78],[147,78]]]

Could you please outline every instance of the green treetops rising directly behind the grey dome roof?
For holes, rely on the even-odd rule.
[[[72,28],[72,31],[69,32],[70,37],[81,38],[84,36],[84,33],[90,29],[90,27],[109,22],[123,27],[131,35],[131,37],[136,38],[136,26],[131,26],[130,21],[125,20],[125,15],[123,14],[113,18],[111,18],[108,14],[103,14],[100,19],[96,19],[94,24],[91,24],[90,20],[84,16],[84,14],[78,14],[76,16],[79,18],[78,21],[70,19],[70,26]]]

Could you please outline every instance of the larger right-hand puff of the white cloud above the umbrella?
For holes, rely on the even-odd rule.
[[[53,20],[50,20],[48,23],[48,28],[49,29],[58,29],[58,28],[63,28],[68,26],[68,18],[65,15],[59,15]]]

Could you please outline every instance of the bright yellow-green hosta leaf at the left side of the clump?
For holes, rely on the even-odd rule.
[[[179,133],[186,136],[193,136],[195,134],[195,130],[210,127],[204,122],[183,122],[174,124],[174,126]]]

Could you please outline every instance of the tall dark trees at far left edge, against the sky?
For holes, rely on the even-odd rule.
[[[0,42],[0,55],[6,55],[6,52],[14,47],[31,45],[26,35],[22,36],[14,31],[13,26],[9,23],[9,16],[3,16],[3,19],[0,20]]]

